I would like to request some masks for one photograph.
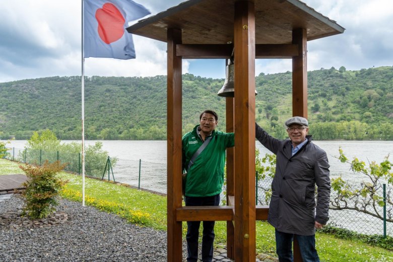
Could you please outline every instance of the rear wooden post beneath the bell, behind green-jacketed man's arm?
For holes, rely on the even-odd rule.
[[[226,124],[227,132],[234,132],[234,99],[226,98]],[[227,148],[227,206],[230,204],[229,196],[234,195],[234,148]],[[235,228],[233,221],[227,221],[227,257],[235,258]]]

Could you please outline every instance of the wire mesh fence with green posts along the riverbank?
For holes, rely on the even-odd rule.
[[[81,170],[81,156],[80,154],[62,153],[62,152],[43,152],[42,150],[26,150],[9,148],[8,154],[5,158],[23,162],[42,164],[45,160],[53,162],[60,160],[63,163],[68,163],[65,170],[80,173]],[[85,173],[89,176],[97,178],[115,180],[116,182],[128,184],[140,189],[147,189],[153,192],[166,194],[167,193],[167,165],[165,162],[148,162],[142,160],[125,160],[111,158],[112,169],[107,170],[105,161],[89,160],[85,164]],[[112,173],[113,172],[113,173]],[[255,204],[269,205],[271,197],[271,184],[273,178],[266,177],[265,179],[255,179]],[[352,190],[360,189],[359,186],[352,185]],[[382,195],[382,188],[378,187],[376,192]],[[391,188],[387,189],[388,198],[390,199]],[[223,187],[225,192],[225,184]],[[338,198],[334,190],[331,192],[331,200]],[[225,200],[225,195],[221,194],[221,200]],[[366,203],[365,199],[351,199],[348,205],[366,206],[365,210],[371,213],[383,214],[383,207],[372,206]],[[391,203],[391,202],[390,202]],[[386,202],[387,217],[393,216],[393,205]],[[356,231],[362,234],[378,234],[384,233],[384,222],[380,218],[356,210],[333,210],[334,206],[331,203],[330,220],[328,224],[335,227]],[[386,234],[393,236],[393,222],[386,222]]]

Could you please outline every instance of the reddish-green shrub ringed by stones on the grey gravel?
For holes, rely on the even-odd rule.
[[[56,196],[64,184],[56,175],[64,166],[59,161],[51,164],[45,161],[42,166],[20,166],[28,177],[23,184],[26,189],[22,192],[25,202],[22,215],[27,215],[31,219],[46,218],[55,211],[55,206],[58,205]]]

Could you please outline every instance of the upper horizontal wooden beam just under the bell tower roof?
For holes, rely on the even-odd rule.
[[[229,59],[233,45],[231,44],[178,44],[176,55],[183,58]],[[256,44],[255,58],[292,58],[299,55],[297,44]]]

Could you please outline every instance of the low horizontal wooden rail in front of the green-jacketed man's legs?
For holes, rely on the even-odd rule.
[[[232,221],[233,206],[195,206],[176,209],[176,221]]]

